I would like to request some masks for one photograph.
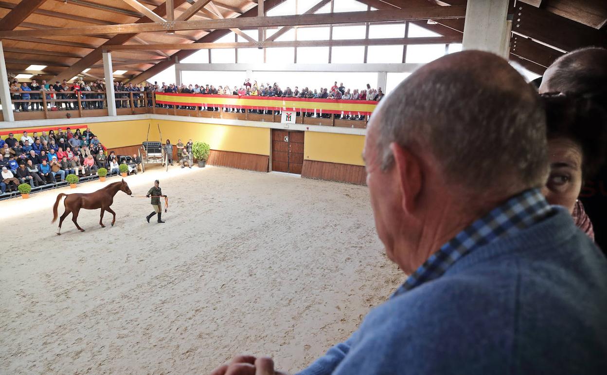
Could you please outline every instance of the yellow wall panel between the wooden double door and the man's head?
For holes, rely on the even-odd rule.
[[[307,131],[305,132],[304,159],[365,165],[362,161],[364,143],[365,136]]]

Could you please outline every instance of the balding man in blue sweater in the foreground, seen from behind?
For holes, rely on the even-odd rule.
[[[379,238],[410,276],[300,374],[607,374],[607,263],[540,193],[544,114],[505,60],[418,69],[379,103],[364,158]],[[277,373],[240,356],[213,374]]]

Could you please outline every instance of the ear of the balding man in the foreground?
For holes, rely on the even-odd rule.
[[[417,198],[422,189],[421,160],[395,142],[390,143],[390,150],[394,156],[396,177],[401,189],[402,209],[411,213],[416,208]]]

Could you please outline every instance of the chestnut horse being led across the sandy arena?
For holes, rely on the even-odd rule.
[[[132,194],[131,189],[129,189],[129,185],[124,182],[124,179],[120,182],[114,182],[112,184],[109,184],[106,187],[95,191],[94,193],[60,193],[57,196],[55,205],[53,206],[53,221],[51,222],[55,222],[55,220],[57,219],[57,207],[59,205],[59,201],[61,201],[61,197],[66,196],[67,198],[65,201],[63,201],[63,204],[66,207],[66,211],[63,213],[63,215],[61,215],[61,218],[59,218],[59,232],[57,232],[57,235],[61,235],[61,224],[63,224],[63,220],[67,217],[67,215],[69,215],[70,212],[72,213],[72,221],[74,222],[74,224],[76,224],[76,228],[78,228],[80,232],[84,232],[84,229],[82,229],[80,225],[78,225],[78,222],[76,222],[76,219],[78,219],[78,212],[80,212],[80,208],[84,208],[85,210],[97,210],[97,208],[101,208],[101,218],[99,219],[99,224],[102,228],[106,227],[105,225],[103,225],[103,213],[106,211],[111,213],[112,215],[114,215],[114,219],[112,219],[112,226],[114,226],[114,223],[116,222],[116,213],[112,211],[110,205],[112,205],[112,203],[114,202],[114,196],[120,190],[124,191],[124,193],[127,193],[129,195]]]

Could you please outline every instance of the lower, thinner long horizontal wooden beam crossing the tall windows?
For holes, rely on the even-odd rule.
[[[432,36],[426,38],[377,38],[345,40],[299,40],[299,41],[263,41],[238,43],[192,43],[192,44],[148,44],[137,46],[107,46],[104,50],[199,50],[228,48],[276,48],[276,47],[342,47],[342,46],[402,46],[405,44],[447,44],[461,43],[462,36]]]

